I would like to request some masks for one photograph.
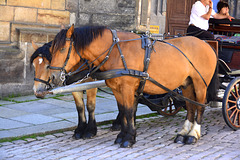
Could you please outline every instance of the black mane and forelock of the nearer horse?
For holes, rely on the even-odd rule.
[[[104,26],[85,26],[74,28],[72,40],[76,50],[85,49],[95,38],[102,36],[106,29]],[[53,40],[53,52],[61,49],[66,43],[66,34],[68,29],[62,29]]]

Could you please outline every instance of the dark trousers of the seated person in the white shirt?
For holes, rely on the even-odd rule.
[[[187,35],[198,37],[202,40],[214,40],[214,35],[208,31],[200,29],[194,25],[189,25],[187,28]]]

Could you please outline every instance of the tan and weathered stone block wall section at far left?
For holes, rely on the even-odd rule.
[[[66,0],[0,0],[0,98],[33,93],[29,59],[34,49],[51,41],[60,25],[68,26]]]

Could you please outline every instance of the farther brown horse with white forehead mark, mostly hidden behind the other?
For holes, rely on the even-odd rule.
[[[33,48],[35,52],[32,54],[30,58],[31,64],[33,64],[35,68],[35,77],[34,77],[34,94],[38,98],[44,98],[43,91],[51,88],[50,84],[50,70],[49,65],[52,59],[52,56],[49,52],[49,48],[51,47],[52,42],[44,44],[42,47],[39,47],[32,42]],[[81,64],[81,63],[80,63]],[[73,70],[76,70],[80,64],[77,64],[73,67]],[[72,81],[72,79],[68,79],[68,81]],[[68,83],[67,81],[67,83]],[[91,82],[93,79],[88,79],[85,82]],[[96,104],[96,94],[97,88],[89,89],[86,91],[87,93],[87,110],[89,115],[89,120],[87,123],[86,115],[85,115],[85,106],[83,101],[83,92],[72,92],[76,109],[78,112],[78,126],[74,131],[73,137],[75,139],[80,138],[91,138],[97,134],[97,126],[95,120],[95,104]],[[112,129],[117,129],[118,127],[117,121],[115,121]]]

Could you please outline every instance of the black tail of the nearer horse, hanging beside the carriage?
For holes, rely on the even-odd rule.
[[[212,80],[207,89],[207,102],[217,100],[217,92],[219,89],[219,77],[218,77],[218,62],[213,74]]]

